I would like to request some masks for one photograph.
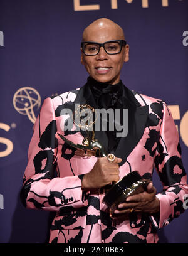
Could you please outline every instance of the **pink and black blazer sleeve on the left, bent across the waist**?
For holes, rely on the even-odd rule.
[[[64,206],[80,208],[88,204],[81,190],[80,176],[57,177],[56,118],[51,98],[44,100],[33,127],[24,172],[21,201],[27,208],[59,211]]]

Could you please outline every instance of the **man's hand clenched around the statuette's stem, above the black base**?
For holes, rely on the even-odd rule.
[[[120,179],[118,163],[121,161],[121,158],[115,157],[113,163],[110,163],[107,157],[99,158],[93,169],[84,175],[81,187],[83,189],[101,188],[113,181],[117,182]]]

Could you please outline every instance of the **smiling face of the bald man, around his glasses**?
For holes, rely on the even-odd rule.
[[[110,40],[123,40],[118,29],[113,26],[94,26],[87,31],[84,41],[104,43]],[[98,55],[86,56],[81,50],[81,63],[92,78],[102,83],[116,84],[120,81],[123,63],[128,61],[129,46],[122,46],[122,51],[116,55],[108,55],[101,47]],[[105,69],[104,69],[105,68]]]

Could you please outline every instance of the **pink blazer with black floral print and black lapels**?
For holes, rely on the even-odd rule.
[[[86,84],[80,89],[44,100],[34,124],[29,144],[28,165],[24,172],[21,200],[27,208],[56,211],[51,224],[50,243],[157,243],[157,229],[169,224],[184,211],[188,193],[187,176],[181,161],[179,134],[167,104],[128,90],[123,85],[128,106],[128,135],[120,139],[115,156],[122,158],[120,178],[132,171],[152,180],[155,170],[163,185],[157,194],[160,213],[130,213],[112,219],[103,204],[100,189],[82,191],[81,179],[97,157],[75,154],[57,133],[81,144],[83,131],[63,131],[75,103],[95,106]],[[96,132],[107,146],[105,131]]]

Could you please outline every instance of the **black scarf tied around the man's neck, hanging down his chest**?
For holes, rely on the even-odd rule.
[[[91,77],[88,77],[88,84],[90,85],[91,92],[95,99],[96,105],[98,109],[113,109],[113,113],[115,114],[115,109],[123,109],[122,104],[122,93],[123,93],[123,85],[120,80],[119,83],[115,85],[110,85],[108,83],[100,83],[94,80]],[[116,120],[116,116],[114,115],[114,120]],[[104,121],[104,120],[103,120]],[[116,137],[117,129],[116,125],[122,125],[122,111],[120,114],[120,124],[115,125],[114,121],[114,129],[110,131],[109,129],[109,117],[107,115],[107,136],[108,136],[108,153],[114,152],[116,147],[118,146],[118,142],[120,138]]]

